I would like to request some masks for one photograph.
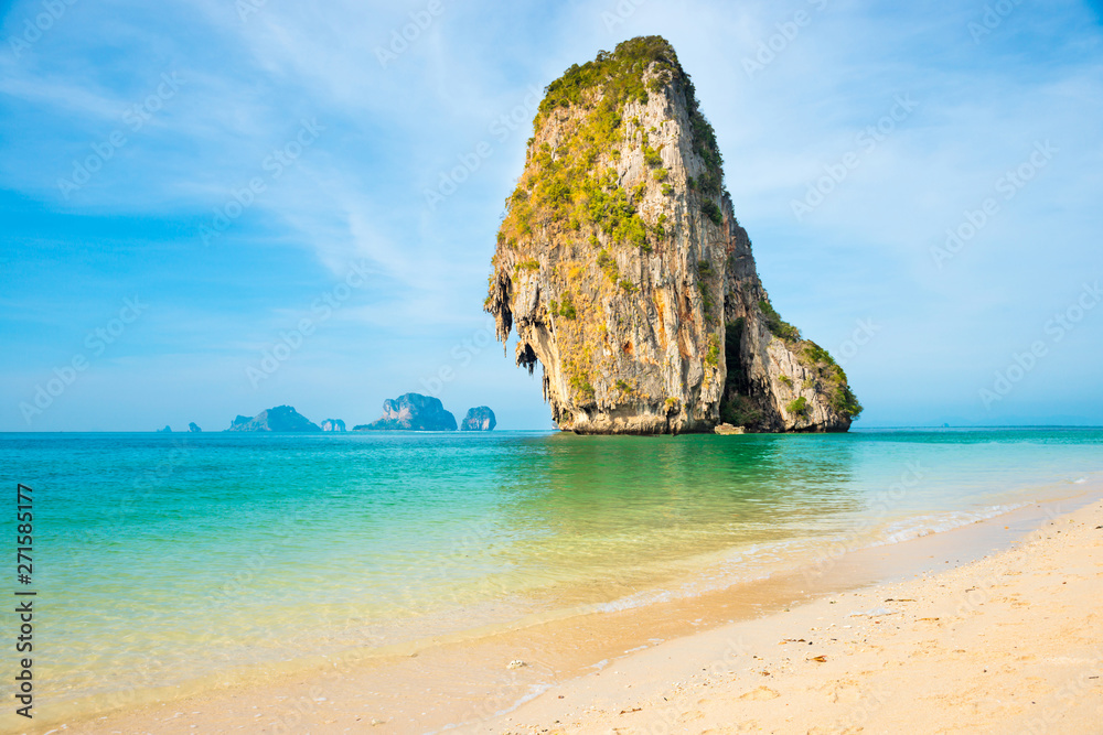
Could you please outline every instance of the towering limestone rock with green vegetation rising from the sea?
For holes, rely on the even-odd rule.
[[[627,41],[547,88],[484,304],[579,433],[845,431],[842,369],[785,324],[665,40]]]

